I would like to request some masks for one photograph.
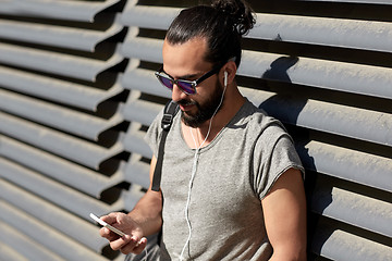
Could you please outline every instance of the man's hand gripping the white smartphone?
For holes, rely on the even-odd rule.
[[[107,227],[102,227],[99,231],[100,236],[110,241],[110,247],[113,250],[120,250],[124,254],[131,252],[138,254],[145,249],[147,238],[144,237],[140,226],[133,221],[131,216],[124,213],[113,212],[103,215],[100,219],[126,234],[125,236],[120,237]]]

